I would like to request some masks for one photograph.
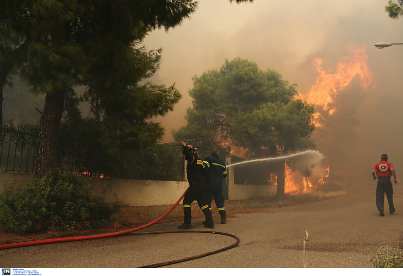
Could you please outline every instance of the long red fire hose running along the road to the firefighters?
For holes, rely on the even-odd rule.
[[[187,191],[187,189],[186,189],[186,191]],[[7,249],[7,248],[15,248],[15,247],[23,247],[23,246],[31,246],[31,245],[40,245],[40,244],[49,244],[49,243],[58,243],[58,242],[110,238],[110,237],[115,237],[115,236],[120,236],[120,235],[124,235],[124,234],[131,233],[131,232],[135,232],[135,231],[147,228],[147,227],[159,222],[163,218],[165,218],[180,203],[180,201],[185,196],[186,191],[183,193],[183,195],[178,199],[178,201],[164,215],[162,215],[161,217],[159,217],[158,219],[156,219],[156,220],[154,220],[154,221],[152,221],[150,223],[147,223],[145,225],[139,226],[137,228],[128,229],[128,230],[119,231],[119,232],[114,232],[114,233],[93,235],[93,236],[55,238],[55,239],[46,239],[46,240],[34,240],[34,241],[24,241],[24,242],[16,242],[16,243],[6,243],[6,244],[0,244],[0,250],[1,249]]]

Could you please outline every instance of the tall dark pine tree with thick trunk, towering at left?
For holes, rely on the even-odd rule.
[[[158,69],[160,50],[139,44],[155,28],[180,24],[195,10],[194,1],[18,0],[1,8],[2,45],[20,50],[18,72],[34,93],[46,95],[36,176],[56,171],[64,101],[79,98],[73,89],[78,85],[87,87],[84,99],[103,122],[109,150],[144,148],[162,137],[151,119],[172,110],[180,94],[174,86],[147,82]],[[2,60],[2,74],[6,64]]]

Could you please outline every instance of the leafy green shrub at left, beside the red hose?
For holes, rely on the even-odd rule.
[[[0,222],[18,234],[83,230],[105,226],[119,208],[95,195],[88,177],[67,174],[53,179],[47,174],[5,188],[0,195]]]

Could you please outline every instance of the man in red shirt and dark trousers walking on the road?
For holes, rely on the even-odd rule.
[[[376,172],[376,176],[375,176]],[[397,183],[396,173],[394,172],[392,163],[387,161],[387,154],[381,155],[380,162],[376,163],[372,168],[372,176],[374,179],[378,177],[378,184],[376,186],[376,207],[378,208],[379,215],[383,217],[383,199],[386,194],[387,202],[389,204],[389,213],[393,214],[395,212],[393,206],[393,188],[392,182],[390,181],[390,176],[393,176],[394,183]]]

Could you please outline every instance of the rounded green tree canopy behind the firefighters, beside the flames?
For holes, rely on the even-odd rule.
[[[187,125],[175,131],[176,140],[231,139],[250,156],[312,148],[313,106],[294,99],[295,84],[280,73],[246,59],[226,60],[220,70],[193,77],[193,108]]]

